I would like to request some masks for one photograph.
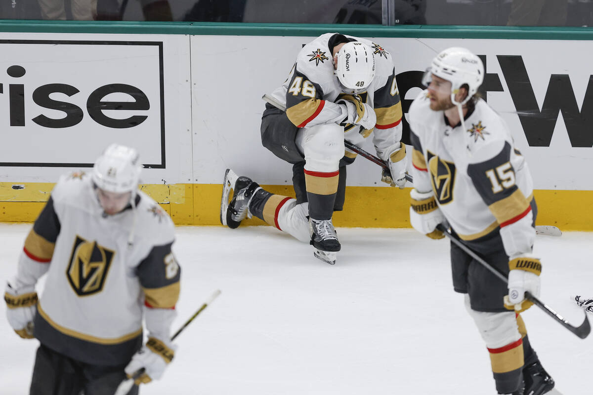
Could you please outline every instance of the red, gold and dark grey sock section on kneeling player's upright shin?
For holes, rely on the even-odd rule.
[[[309,215],[316,220],[329,220],[336,200],[339,171],[314,172],[305,169]]]

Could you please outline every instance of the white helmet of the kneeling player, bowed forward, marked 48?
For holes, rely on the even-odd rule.
[[[337,52],[334,71],[340,84],[348,89],[364,91],[375,78],[375,55],[371,47],[360,41],[350,41]]]

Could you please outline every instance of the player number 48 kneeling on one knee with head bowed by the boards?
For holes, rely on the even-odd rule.
[[[362,144],[374,129],[377,155],[391,174],[382,181],[406,184],[401,103],[391,55],[363,38],[326,33],[305,45],[288,78],[272,93],[286,113],[266,104],[262,144],[292,163],[296,199],[271,194],[232,171],[225,174],[221,222],[231,228],[254,215],[302,242],[330,264],[340,242],[331,217],[343,208],[346,165],[356,154],[344,140]],[[229,189],[234,189],[228,204]],[[226,194],[226,195],[225,195]]]

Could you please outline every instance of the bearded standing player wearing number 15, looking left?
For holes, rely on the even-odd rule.
[[[533,181],[511,132],[476,95],[484,79],[479,57],[464,48],[439,53],[428,87],[410,107],[413,144],[412,226],[433,239],[448,223],[455,237],[508,275],[508,288],[451,243],[455,291],[490,355],[499,394],[541,395],[554,381],[531,348],[521,311],[538,296],[540,259],[532,254],[537,205]],[[509,311],[511,310],[511,311]],[[478,388],[476,393],[483,393]]]

